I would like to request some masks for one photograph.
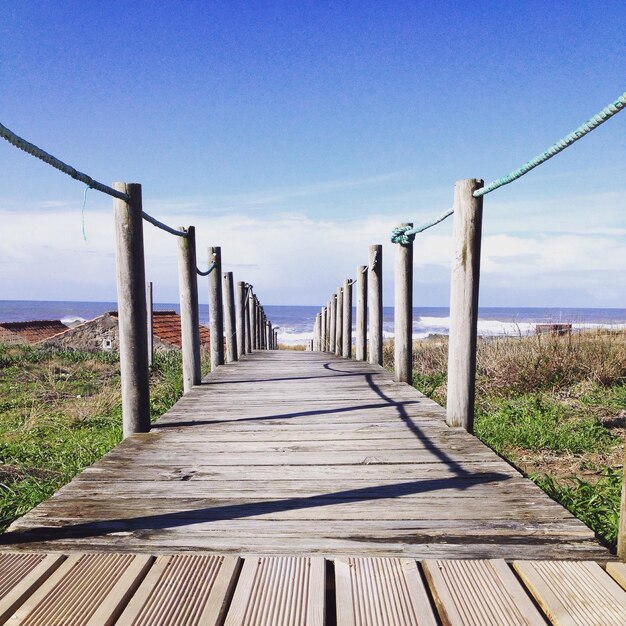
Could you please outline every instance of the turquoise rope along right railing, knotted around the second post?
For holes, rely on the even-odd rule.
[[[536,157],[532,158],[530,161],[527,161],[516,170],[513,170],[506,176],[502,176],[488,185],[477,189],[474,192],[474,197],[478,198],[480,196],[484,196],[504,185],[508,185],[513,181],[521,178],[525,174],[528,174],[531,170],[535,169],[537,166],[545,163],[547,160],[551,159],[553,156],[556,156],[559,152],[565,150],[565,148],[569,148],[573,143],[582,139],[585,135],[588,135],[592,130],[595,130],[600,126],[600,124],[604,124],[607,120],[611,119],[614,115],[617,115],[620,111],[626,108],[626,93],[623,93],[617,100],[611,102],[609,105],[604,107],[602,111],[598,114],[594,115],[591,119],[587,120],[584,124],[581,124],[576,130],[572,131],[555,144],[550,146],[547,150],[538,154]],[[414,239],[415,235],[418,233],[424,232],[429,228],[432,228],[436,224],[443,222],[446,218],[450,217],[454,213],[454,209],[448,209],[438,218],[426,222],[420,226],[411,227],[411,226],[401,226],[398,228],[394,228],[391,234],[391,241],[393,243],[399,244],[410,244]]]

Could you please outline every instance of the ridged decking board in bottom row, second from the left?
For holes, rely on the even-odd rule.
[[[153,557],[72,554],[24,602],[8,624],[113,624]]]

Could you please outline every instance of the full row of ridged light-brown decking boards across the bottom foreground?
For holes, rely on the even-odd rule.
[[[11,555],[0,624],[37,626],[623,626],[596,563],[396,558]],[[29,561],[30,559],[30,561]],[[33,584],[32,565],[49,578]],[[57,562],[52,565],[52,561]],[[7,564],[7,561],[4,561]],[[243,564],[243,566],[242,566]],[[619,565],[609,563],[612,569]],[[17,572],[20,572],[17,575]],[[24,590],[28,591],[24,593]],[[20,590],[20,594],[16,594]],[[537,601],[533,604],[531,597]],[[8,620],[8,621],[5,621]]]

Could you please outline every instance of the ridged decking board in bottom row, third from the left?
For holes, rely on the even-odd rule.
[[[160,556],[116,625],[220,624],[239,568],[236,557]]]

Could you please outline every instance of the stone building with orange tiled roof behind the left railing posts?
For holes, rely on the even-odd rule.
[[[180,350],[182,347],[180,315],[176,311],[154,311],[152,326],[155,351]],[[44,345],[89,352],[118,352],[119,322],[117,311],[110,311],[93,320],[50,337]],[[209,346],[209,329],[200,326],[200,343]]]

